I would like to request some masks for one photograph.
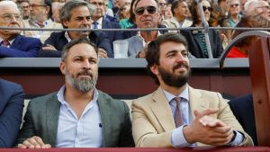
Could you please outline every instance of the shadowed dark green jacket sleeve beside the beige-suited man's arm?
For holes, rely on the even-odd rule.
[[[130,109],[126,103],[124,105],[124,123],[123,128],[121,130],[121,137],[120,137],[120,147],[134,147],[134,140],[132,137],[132,130],[131,130],[131,121],[130,121]]]

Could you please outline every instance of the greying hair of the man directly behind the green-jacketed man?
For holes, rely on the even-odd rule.
[[[60,22],[62,23],[64,28],[67,28],[64,26],[63,22],[64,20],[69,21],[71,18],[71,12],[73,9],[81,6],[86,6],[90,12],[90,15],[92,16],[95,13],[95,6],[93,4],[89,4],[83,0],[72,0],[68,1],[64,6],[60,9],[59,18]]]

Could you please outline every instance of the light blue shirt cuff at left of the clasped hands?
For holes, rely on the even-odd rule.
[[[173,130],[172,137],[171,137],[171,143],[175,148],[185,148],[185,147],[191,147],[192,144],[188,143],[186,139],[184,138],[184,132],[183,128],[185,125],[182,125],[175,130]]]

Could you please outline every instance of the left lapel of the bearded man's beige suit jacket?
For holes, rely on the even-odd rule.
[[[150,106],[165,131],[175,129],[174,117],[161,87],[153,94],[153,103]]]

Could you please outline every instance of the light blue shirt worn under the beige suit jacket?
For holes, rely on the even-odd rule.
[[[162,90],[166,96],[167,101],[170,104],[173,116],[175,118],[176,103],[175,103],[174,98],[176,96],[174,94],[170,94],[170,93],[166,92],[166,90],[164,90],[164,89],[162,89]],[[176,128],[175,130],[173,130],[172,137],[171,137],[171,143],[175,148],[195,147],[196,144],[190,144],[186,141],[186,139],[184,138],[184,132],[183,132],[183,127],[185,125],[190,125],[191,122],[193,121],[192,113],[190,110],[189,93],[188,93],[187,86],[184,88],[184,91],[178,97],[182,97],[182,100],[180,102],[180,112],[181,112],[181,118],[182,118],[183,125]],[[236,130],[234,130],[234,132],[236,132],[237,135],[236,135],[236,138],[231,143],[229,143],[230,146],[237,146],[244,139],[244,136],[241,133],[239,133]]]

